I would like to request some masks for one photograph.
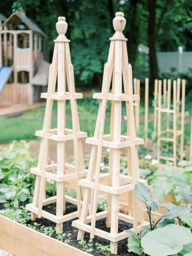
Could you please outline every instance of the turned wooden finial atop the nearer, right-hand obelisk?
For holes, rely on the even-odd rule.
[[[124,13],[121,11],[116,12],[115,18],[113,19],[113,27],[115,29],[115,34],[113,37],[125,37],[122,33],[126,25],[126,20],[124,18]]]

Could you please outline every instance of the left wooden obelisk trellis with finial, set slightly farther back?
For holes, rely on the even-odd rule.
[[[47,93],[42,93],[41,98],[46,99],[43,130],[36,131],[41,137],[38,166],[31,169],[36,174],[33,202],[26,205],[26,209],[33,213],[33,219],[41,216],[56,222],[57,229],[63,229],[63,222],[80,217],[81,212],[81,189],[78,185],[80,177],[86,177],[87,171],[84,166],[84,156],[81,139],[87,137],[86,132],[79,128],[76,99],[83,98],[82,93],[75,93],[74,72],[71,64],[69,40],[66,38],[67,23],[65,17],[59,17],[56,24],[59,34],[55,42],[53,61],[49,70],[49,83]],[[57,80],[57,92],[55,92]],[[68,92],[66,91],[66,82]],[[58,101],[57,129],[51,129],[53,101]],[[66,100],[70,100],[72,129],[67,129],[66,124]],[[57,163],[48,164],[49,141],[57,141]],[[75,165],[66,163],[67,140],[73,140]],[[56,173],[52,173],[55,170]],[[57,183],[57,195],[45,198],[46,179]],[[76,179],[77,199],[65,195],[65,183]],[[65,213],[65,202],[77,204],[77,211]],[[56,215],[42,210],[42,206],[56,202]]]

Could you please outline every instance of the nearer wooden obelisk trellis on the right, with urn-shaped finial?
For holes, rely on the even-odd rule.
[[[93,98],[100,99],[98,116],[94,137],[87,138],[86,142],[92,145],[87,179],[82,179],[79,184],[85,187],[82,204],[81,218],[72,222],[77,227],[77,239],[84,236],[85,231],[103,237],[110,241],[111,253],[117,254],[117,242],[128,237],[125,232],[118,233],[118,220],[133,224],[133,230],[137,233],[141,225],[148,223],[143,220],[141,203],[132,195],[132,190],[137,181],[145,183],[139,176],[139,163],[137,145],[143,144],[143,139],[136,137],[134,106],[139,95],[133,95],[132,68],[128,63],[127,39],[122,31],[126,20],[123,12],[117,12],[113,20],[115,34],[110,38],[110,48],[107,63],[104,65],[103,83],[101,93],[95,93]],[[122,74],[124,91],[122,93]],[[112,93],[109,93],[111,77]],[[110,134],[103,135],[105,110],[107,100],[111,100]],[[121,135],[121,107],[122,101],[126,102],[127,111],[127,135]],[[102,147],[108,147],[109,172],[100,173]],[[120,150],[127,148],[128,175],[120,174]],[[102,185],[102,177],[108,177],[108,186]],[[127,185],[120,185],[122,179]],[[106,211],[97,212],[98,191],[108,194],[108,206]],[[119,194],[129,192],[129,215],[119,213]],[[107,218],[106,226],[110,227],[110,233],[95,227],[96,220]],[[88,223],[91,222],[91,226]]]

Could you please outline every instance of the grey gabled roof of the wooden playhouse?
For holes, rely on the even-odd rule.
[[[32,21],[30,20],[25,12],[23,11],[15,11],[13,12],[9,18],[2,24],[4,26],[7,23],[11,23],[14,25],[18,25],[20,22],[23,22],[30,30],[41,34],[44,37],[47,37],[46,34]]]

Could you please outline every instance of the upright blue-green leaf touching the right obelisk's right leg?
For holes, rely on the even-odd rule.
[[[134,196],[139,201],[141,201],[141,202],[149,202],[149,201],[151,201],[152,194],[151,194],[149,188],[147,188],[145,186],[145,184],[143,184],[141,182],[137,182],[133,192],[134,192]]]

